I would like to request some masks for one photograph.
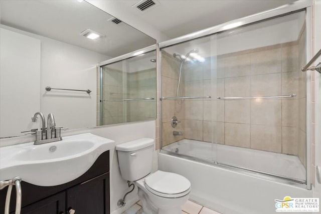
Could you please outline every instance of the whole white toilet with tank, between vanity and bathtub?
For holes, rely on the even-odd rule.
[[[181,214],[191,182],[184,176],[158,170],[151,173],[154,140],[141,138],[116,146],[122,178],[134,181],[145,214]]]

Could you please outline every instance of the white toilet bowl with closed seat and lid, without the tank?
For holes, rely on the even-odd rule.
[[[137,180],[136,185],[145,214],[181,214],[191,191],[187,178],[160,170]]]

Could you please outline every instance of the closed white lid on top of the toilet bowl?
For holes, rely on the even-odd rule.
[[[144,181],[150,189],[164,194],[180,194],[191,187],[191,182],[186,177],[160,170],[146,177]]]

